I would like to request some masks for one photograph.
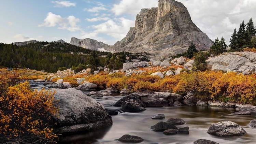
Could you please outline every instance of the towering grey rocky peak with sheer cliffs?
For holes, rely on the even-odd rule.
[[[187,50],[191,41],[209,49],[212,41],[191,20],[187,8],[174,0],[159,0],[158,8],[142,9],[135,27],[111,47],[112,52],[148,52],[168,56]]]

